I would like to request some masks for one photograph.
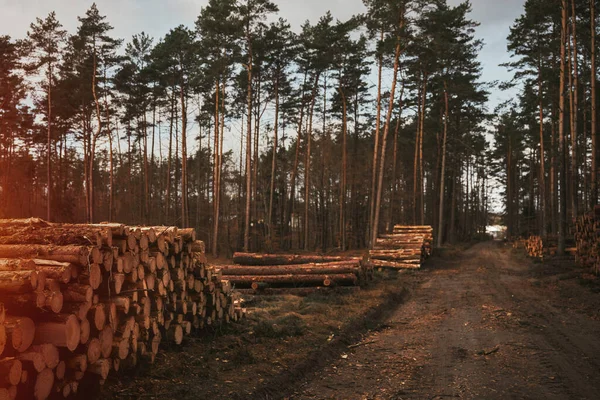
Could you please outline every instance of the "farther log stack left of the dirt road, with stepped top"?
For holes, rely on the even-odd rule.
[[[421,268],[431,256],[433,228],[431,226],[394,226],[391,235],[380,235],[369,251],[374,267],[394,269]]]

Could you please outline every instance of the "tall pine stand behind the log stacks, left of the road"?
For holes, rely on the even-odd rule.
[[[209,0],[158,40],[113,37],[95,4],[73,34],[50,13],[1,36],[0,217],[195,227],[214,255],[483,232],[470,3],[363,1],[299,32],[269,0]]]

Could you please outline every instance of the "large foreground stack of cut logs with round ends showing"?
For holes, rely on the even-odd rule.
[[[0,399],[46,399],[244,315],[193,229],[0,220]]]

